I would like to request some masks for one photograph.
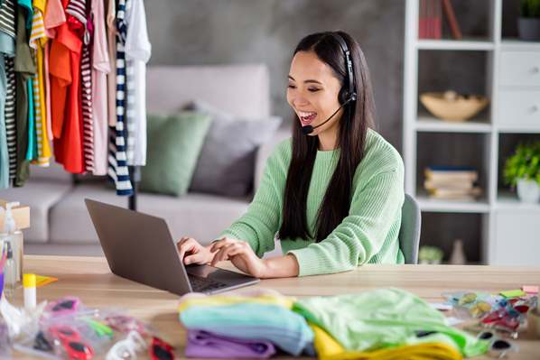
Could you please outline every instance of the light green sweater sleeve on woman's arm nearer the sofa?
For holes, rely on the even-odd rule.
[[[265,163],[263,179],[247,212],[219,235],[246,241],[257,256],[275,248],[275,234],[281,224],[286,169],[278,145]]]

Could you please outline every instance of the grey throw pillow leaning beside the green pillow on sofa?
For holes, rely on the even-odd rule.
[[[228,114],[202,101],[186,109],[211,116],[191,191],[228,197],[246,196],[253,188],[256,149],[268,141],[281,118],[245,118]]]

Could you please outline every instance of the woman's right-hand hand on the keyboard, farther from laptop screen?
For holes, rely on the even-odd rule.
[[[230,260],[242,272],[246,272],[256,278],[267,277],[265,261],[259,259],[251,246],[245,241],[223,237],[213,243],[210,247],[210,252],[216,252],[212,263],[210,263],[212,266],[221,261]]]

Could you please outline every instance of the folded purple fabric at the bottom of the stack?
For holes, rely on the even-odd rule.
[[[275,354],[275,346],[265,340],[224,337],[204,330],[188,330],[186,357],[267,358]]]

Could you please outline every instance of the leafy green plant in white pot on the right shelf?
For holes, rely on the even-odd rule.
[[[520,143],[516,152],[507,159],[504,180],[517,187],[517,197],[527,203],[540,199],[540,142]]]

